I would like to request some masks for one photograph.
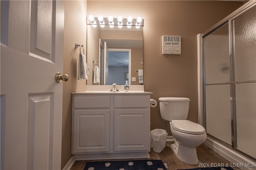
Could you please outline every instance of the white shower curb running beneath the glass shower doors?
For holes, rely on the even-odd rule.
[[[242,154],[239,154],[238,152],[226,147],[225,145],[222,145],[221,143],[218,143],[207,137],[204,144],[232,162],[232,164],[229,166],[232,166],[233,169],[240,168],[242,170],[255,170],[256,168],[256,162],[253,162]]]

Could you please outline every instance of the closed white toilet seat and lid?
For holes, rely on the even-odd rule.
[[[172,120],[172,127],[183,133],[200,135],[205,133],[204,127],[189,120]]]

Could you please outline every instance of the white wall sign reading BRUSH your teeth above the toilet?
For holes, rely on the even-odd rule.
[[[163,35],[162,54],[181,54],[181,37]]]

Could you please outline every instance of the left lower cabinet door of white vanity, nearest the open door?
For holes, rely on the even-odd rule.
[[[109,151],[109,110],[74,110],[73,153]]]

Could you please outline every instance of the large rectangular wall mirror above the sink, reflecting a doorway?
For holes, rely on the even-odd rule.
[[[138,70],[143,69],[143,27],[87,25],[87,65],[90,66],[87,85],[124,85],[126,81],[142,85]],[[100,83],[94,83],[95,66],[99,67]]]

